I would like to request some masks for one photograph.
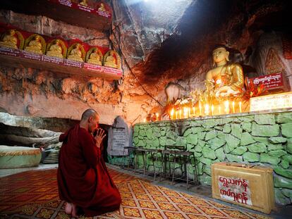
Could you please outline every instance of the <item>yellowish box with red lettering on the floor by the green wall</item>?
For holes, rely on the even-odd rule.
[[[212,196],[214,199],[270,213],[274,209],[272,173],[272,168],[255,165],[214,163]]]

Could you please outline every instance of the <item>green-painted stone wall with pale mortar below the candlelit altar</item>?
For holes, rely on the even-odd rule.
[[[133,144],[164,149],[184,145],[197,158],[201,184],[211,185],[212,163],[267,165],[274,169],[276,203],[292,202],[292,112],[139,123]],[[188,164],[192,173],[193,165]]]

